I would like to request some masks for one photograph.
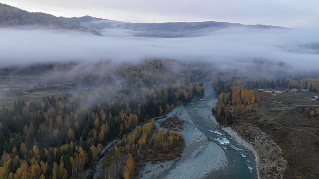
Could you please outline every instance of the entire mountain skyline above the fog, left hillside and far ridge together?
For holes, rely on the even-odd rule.
[[[243,25],[228,22],[166,22],[130,23],[91,16],[56,17],[42,12],[28,12],[0,3],[0,27],[41,26],[66,30],[90,32],[95,35],[117,37],[193,37],[207,35],[212,31],[231,27],[257,29],[284,28],[267,25]]]

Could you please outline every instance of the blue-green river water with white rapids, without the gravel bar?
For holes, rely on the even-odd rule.
[[[256,179],[256,162],[253,153],[233,140],[230,135],[218,127],[216,122],[209,118],[211,107],[215,105],[217,95],[211,83],[203,85],[204,97],[187,103],[184,107],[191,113],[192,121],[197,129],[209,141],[221,147],[227,157],[227,167],[210,172],[205,176],[205,179]]]

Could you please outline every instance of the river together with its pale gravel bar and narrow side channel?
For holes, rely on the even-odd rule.
[[[159,120],[177,115],[185,121],[181,133],[186,147],[181,158],[167,161],[165,167],[149,162],[139,178],[257,179],[254,154],[244,147],[245,142],[236,142],[238,140],[219,127],[214,117],[211,118],[211,107],[216,104],[217,95],[211,83],[203,85],[203,98],[178,106]],[[105,148],[105,152],[114,142]],[[102,171],[101,162],[99,160],[90,170],[88,178],[97,179]]]

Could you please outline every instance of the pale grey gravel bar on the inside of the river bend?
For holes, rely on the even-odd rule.
[[[200,179],[214,170],[226,167],[227,158],[224,151],[215,143],[208,141],[207,137],[195,127],[185,107],[176,107],[167,117],[175,115],[185,121],[184,130],[181,131],[185,140],[182,156],[175,161],[155,165],[147,163],[141,172],[143,179]]]

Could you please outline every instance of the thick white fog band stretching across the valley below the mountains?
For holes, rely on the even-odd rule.
[[[54,61],[205,60],[238,68],[253,60],[318,69],[319,36],[302,29],[229,28],[189,38],[100,37],[61,30],[0,29],[0,67]],[[115,35],[114,35],[115,34]],[[123,34],[123,37],[121,37]],[[207,34],[207,33],[206,33]]]

